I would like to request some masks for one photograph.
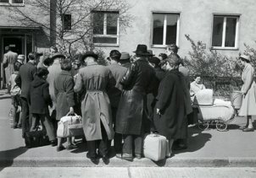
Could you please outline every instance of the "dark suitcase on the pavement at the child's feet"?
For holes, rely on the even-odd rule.
[[[45,131],[25,132],[25,146],[27,148],[49,145],[50,141]]]

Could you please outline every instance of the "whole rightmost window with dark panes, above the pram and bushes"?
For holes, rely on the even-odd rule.
[[[237,48],[238,16],[214,15],[212,47]]]

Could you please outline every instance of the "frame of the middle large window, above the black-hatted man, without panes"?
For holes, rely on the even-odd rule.
[[[153,45],[153,13],[159,13],[164,15],[164,34],[163,34],[163,45]],[[165,12],[165,11],[152,11],[152,21],[151,21],[151,47],[154,48],[165,48],[166,45],[166,24],[167,24],[167,15],[169,14],[175,14],[178,15],[177,19],[177,33],[176,33],[176,46],[180,46],[180,28],[181,28],[181,12]]]

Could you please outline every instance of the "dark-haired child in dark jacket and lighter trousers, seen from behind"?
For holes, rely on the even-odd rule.
[[[38,68],[36,77],[31,83],[29,96],[32,114],[31,131],[36,130],[36,123],[40,120],[43,125],[42,127],[47,130],[47,136],[49,137],[52,146],[56,146],[57,139],[48,111],[48,105],[53,105],[49,94],[49,84],[46,81],[48,73],[46,67]]]

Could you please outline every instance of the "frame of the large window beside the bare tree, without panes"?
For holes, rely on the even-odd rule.
[[[116,24],[117,25],[117,32],[116,32],[117,35],[108,35],[107,34],[107,16],[108,16],[108,13],[117,13],[119,15],[120,14],[119,10],[111,10],[111,11],[93,10],[92,13],[103,13],[104,14],[103,35],[93,34],[93,31],[92,31],[92,45],[93,46],[120,46],[120,17],[117,18],[117,24]],[[92,23],[93,23],[93,21],[92,21]],[[93,37],[114,38],[114,39],[116,39],[116,43],[94,43],[93,42]]]

